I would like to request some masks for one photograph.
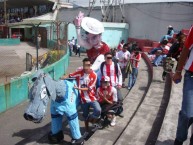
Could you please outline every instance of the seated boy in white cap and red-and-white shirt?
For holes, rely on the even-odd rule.
[[[110,85],[110,78],[102,76],[101,86],[97,89],[97,99],[101,105],[102,113],[107,113],[110,125],[115,126],[116,116],[115,109],[111,109],[114,103],[117,102],[117,90]]]

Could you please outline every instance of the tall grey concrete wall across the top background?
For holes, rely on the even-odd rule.
[[[79,11],[88,14],[88,8],[62,9],[59,19],[72,22]],[[91,17],[101,20],[100,8],[95,8]],[[116,22],[122,15],[117,9]],[[190,28],[193,24],[193,8],[188,3],[150,3],[125,5],[125,20],[129,24],[129,37],[159,41],[167,33],[167,26],[175,30]]]

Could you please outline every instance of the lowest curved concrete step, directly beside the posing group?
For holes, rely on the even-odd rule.
[[[118,117],[117,124],[114,127],[105,128],[103,130],[98,130],[97,132],[95,132],[92,138],[85,142],[85,145],[112,145],[117,142],[120,136],[122,137],[122,132],[124,132],[125,127],[132,120],[141,99],[143,99],[144,95],[146,94],[145,90],[148,89],[149,77],[150,76],[147,64],[144,60],[141,60],[136,84],[123,102],[124,118]],[[128,80],[126,82],[128,82]],[[133,131],[131,132],[134,133]],[[125,140],[126,142],[124,142],[123,144],[128,144],[129,140],[127,137],[125,138]]]

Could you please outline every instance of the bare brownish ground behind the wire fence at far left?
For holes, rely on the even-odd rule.
[[[40,48],[39,56],[48,49]],[[26,70],[26,53],[36,57],[36,48],[32,43],[21,42],[16,46],[0,46],[0,83],[20,76]]]

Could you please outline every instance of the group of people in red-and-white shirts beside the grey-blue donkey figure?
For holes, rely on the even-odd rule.
[[[74,88],[80,91],[81,108],[85,119],[84,138],[89,134],[89,122],[94,126],[92,130],[100,128],[101,116],[104,114],[110,126],[116,125],[118,107],[111,108],[123,101],[120,89],[127,87],[130,90],[136,82],[141,53],[136,43],[124,44],[123,42],[122,40],[122,45],[118,45],[116,49],[108,49],[109,51],[104,54],[105,60],[98,70],[92,70],[92,59],[84,58],[82,68],[61,77],[61,79],[68,77],[77,79],[78,85]],[[73,37],[69,41],[70,55],[74,45],[77,45],[77,40]],[[89,53],[87,51],[88,56]],[[128,85],[125,85],[125,78],[128,76]],[[90,107],[93,108],[92,114],[89,113]]]

